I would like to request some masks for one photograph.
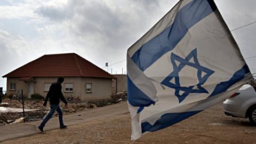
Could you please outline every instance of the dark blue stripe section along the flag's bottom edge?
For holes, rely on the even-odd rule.
[[[190,116],[193,116],[197,113],[201,112],[200,111],[188,111],[188,112],[183,112],[183,113],[168,113],[164,114],[161,116],[160,119],[158,119],[154,125],[151,125],[148,122],[143,122],[141,123],[141,130],[142,133],[149,131],[149,132],[154,132],[157,130],[164,129],[165,127],[168,127],[170,125],[173,125],[175,123],[178,123],[182,121],[183,119],[186,119]]]

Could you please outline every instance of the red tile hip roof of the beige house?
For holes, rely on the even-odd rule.
[[[3,77],[102,77],[114,78],[76,53],[47,54]]]

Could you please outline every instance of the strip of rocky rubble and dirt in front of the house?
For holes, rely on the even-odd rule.
[[[63,115],[73,114],[81,110],[91,109],[96,107],[103,107],[106,105],[112,105],[114,103],[119,103],[127,100],[127,92],[118,92],[111,95],[111,99],[108,100],[98,100],[90,102],[82,102],[79,97],[70,97],[68,100],[68,108],[64,108],[64,103],[61,102],[60,106],[63,110]],[[0,107],[11,107],[11,108],[22,108],[22,103],[18,100],[4,99]],[[47,111],[50,110],[50,103],[47,106],[43,106],[43,100],[25,100],[25,109],[34,109],[34,111],[25,112],[25,121],[38,121],[41,120]],[[54,116],[58,116],[55,113]],[[10,124],[23,117],[23,113],[0,113],[0,125]]]

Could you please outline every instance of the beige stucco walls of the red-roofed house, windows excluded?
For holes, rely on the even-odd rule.
[[[64,77],[62,83],[62,93],[65,98],[79,97],[83,101],[109,99],[111,95],[111,79],[110,78],[90,78],[90,77]],[[28,95],[28,83],[19,81],[19,78],[7,78],[7,95],[17,95],[17,89],[23,90],[23,95]],[[38,93],[46,97],[47,91],[44,91],[45,83],[53,83],[57,81],[57,77],[35,77],[34,93]],[[10,90],[10,83],[16,83],[16,90]],[[73,92],[65,92],[65,83],[73,83]],[[86,92],[86,83],[92,84],[92,92]]]

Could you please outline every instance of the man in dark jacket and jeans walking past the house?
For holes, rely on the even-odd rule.
[[[55,113],[55,111],[58,111],[59,113],[59,121],[60,121],[60,129],[66,128],[67,126],[63,124],[63,119],[62,119],[62,110],[60,108],[60,100],[62,100],[65,103],[65,108],[67,108],[68,102],[66,101],[66,99],[64,98],[61,89],[61,83],[63,83],[64,78],[63,77],[59,77],[57,82],[52,83],[52,85],[50,86],[50,89],[46,95],[46,98],[44,100],[44,106],[47,105],[47,100],[50,99],[50,111],[48,111],[48,113],[46,114],[43,122],[41,123],[41,125],[38,126],[38,129],[44,133],[44,126],[45,124],[49,121],[49,119],[52,118],[52,115]]]

